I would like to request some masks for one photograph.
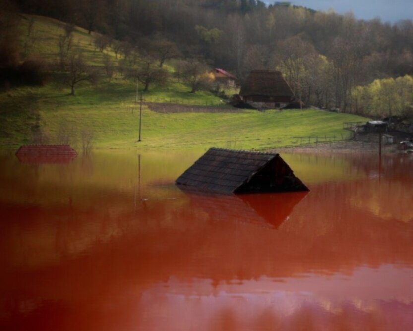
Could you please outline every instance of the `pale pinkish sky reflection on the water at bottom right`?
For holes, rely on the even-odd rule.
[[[154,285],[142,293],[141,307],[145,307],[142,320],[149,330],[165,330],[170,325],[191,330],[195,321],[196,330],[210,330],[211,321],[216,320],[221,312],[230,310],[237,328],[253,325],[254,319],[263,314],[271,314],[275,320],[284,323],[289,321],[285,326],[288,328],[302,310],[310,309],[319,327],[331,323],[332,316],[357,311],[381,316],[388,323],[391,321],[377,330],[396,326],[397,330],[411,330],[413,315],[407,315],[406,320],[398,320],[388,308],[401,306],[412,312],[412,281],[412,269],[393,265],[383,265],[378,269],[361,267],[351,277],[342,274],[283,280],[261,277],[216,286],[207,279],[182,283],[171,277],[168,282]],[[160,311],[164,312],[161,320],[158,316]],[[182,312],[187,319],[182,320]],[[366,326],[356,316],[344,318],[360,330]]]

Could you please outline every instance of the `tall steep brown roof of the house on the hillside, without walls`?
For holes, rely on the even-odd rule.
[[[293,91],[280,71],[252,70],[239,92],[241,96],[265,95],[292,97]]]

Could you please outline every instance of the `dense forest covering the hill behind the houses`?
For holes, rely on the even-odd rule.
[[[366,115],[412,111],[413,83],[404,77],[413,74],[411,20],[357,20],[257,0],[14,2],[22,13],[101,33],[125,58],[157,53],[161,66],[172,58],[197,59],[240,81],[252,69],[278,69],[307,104]]]

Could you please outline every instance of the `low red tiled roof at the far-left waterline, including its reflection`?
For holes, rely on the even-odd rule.
[[[69,145],[24,145],[16,156],[23,163],[68,163],[77,153]]]

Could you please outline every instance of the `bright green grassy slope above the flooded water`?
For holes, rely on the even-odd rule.
[[[61,22],[37,18],[35,29],[39,39],[31,51],[54,59],[57,38],[63,33]],[[85,30],[77,28],[74,41],[84,50],[90,63],[102,63],[102,53],[94,51],[91,36]],[[319,110],[160,114],[143,107],[142,142],[136,143],[139,107],[133,102],[135,85],[132,82],[116,77],[112,83],[102,81],[93,87],[80,86],[76,97],[68,96],[68,91],[56,82],[0,94],[0,146],[15,148],[30,143],[32,131],[40,126],[51,143],[59,142],[57,136],[64,127],[75,145],[82,130],[92,129],[94,144],[99,148],[204,149],[219,146],[264,149],[294,145],[300,141],[297,136],[348,135],[342,130],[342,123],[362,120],[354,115]],[[194,95],[187,91],[183,84],[173,82],[165,87],[154,87],[144,98],[160,102],[220,104],[219,98],[208,92]]]

